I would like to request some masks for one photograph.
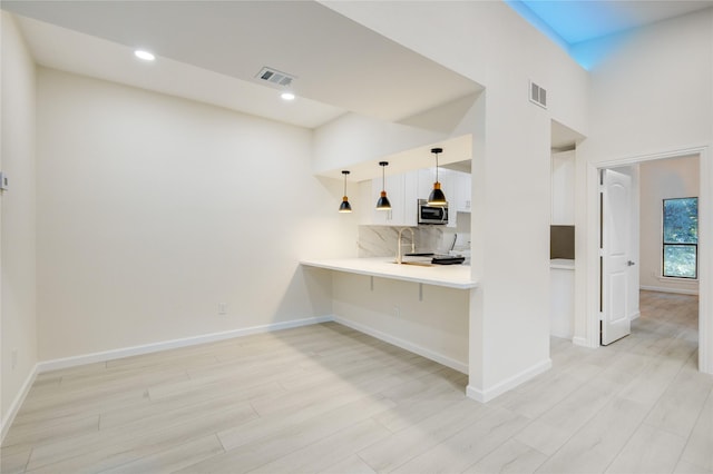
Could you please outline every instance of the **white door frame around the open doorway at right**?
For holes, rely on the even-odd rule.
[[[576,216],[576,225],[584,228],[575,243],[575,276],[584,275],[584,287],[575,296],[575,337],[573,343],[599,347],[599,171],[644,161],[699,156],[699,371],[713,374],[713,166],[707,146],[676,149],[651,155],[632,156],[617,160],[586,162],[586,213]],[[582,180],[579,180],[582,182]],[[582,207],[579,207],[582,209]],[[584,312],[584,315],[582,313]],[[577,322],[584,327],[577,327]]]

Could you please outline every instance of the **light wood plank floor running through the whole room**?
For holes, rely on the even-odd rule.
[[[2,473],[713,472],[697,298],[642,293],[633,334],[488,404],[338,324],[41,374]]]

